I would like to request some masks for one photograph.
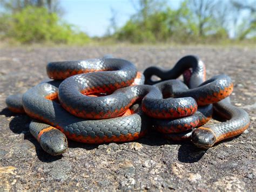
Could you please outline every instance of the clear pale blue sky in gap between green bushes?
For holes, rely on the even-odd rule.
[[[123,26],[135,13],[134,6],[137,0],[62,0],[65,10],[64,19],[79,27],[89,36],[103,36],[110,25],[111,8],[116,12],[117,25]],[[181,0],[170,1],[171,6],[177,9]]]

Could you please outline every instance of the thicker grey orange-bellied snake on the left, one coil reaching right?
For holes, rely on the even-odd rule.
[[[33,119],[30,132],[51,155],[65,152],[67,138],[85,143],[132,141],[147,132],[147,115],[180,118],[196,112],[193,98],[164,99],[157,87],[134,85],[137,69],[124,59],[58,61],[49,63],[46,71],[55,80],[10,95],[6,104]],[[139,100],[142,109],[132,109]],[[122,116],[129,108],[132,114]]]

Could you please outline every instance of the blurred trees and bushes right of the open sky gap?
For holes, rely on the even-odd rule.
[[[160,5],[160,6],[157,6]],[[255,42],[256,5],[211,0],[183,1],[179,9],[165,1],[140,0],[138,12],[113,37],[131,43],[217,43],[251,38]],[[239,22],[237,14],[247,10],[249,16]]]

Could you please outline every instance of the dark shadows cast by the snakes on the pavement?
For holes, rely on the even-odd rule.
[[[37,140],[33,138],[33,136],[29,132],[29,124],[31,118],[28,115],[10,112],[8,108],[4,108],[0,112],[0,115],[5,115],[6,117],[14,116],[14,118],[9,123],[10,130],[16,134],[23,133],[24,139],[29,140],[31,143],[33,143],[33,145],[35,145],[37,157],[40,161],[53,162],[62,159],[62,155],[51,156],[48,153],[44,152]],[[178,150],[178,160],[180,162],[186,163],[193,163],[199,161],[206,152],[206,150],[201,150],[191,145],[190,141],[176,142],[166,140],[162,138],[161,134],[153,130],[144,138],[138,139],[137,142],[149,146],[180,145],[180,148]],[[93,150],[95,148],[98,148],[98,146],[99,145],[89,145],[86,143],[69,140],[69,148],[84,148],[86,150]]]

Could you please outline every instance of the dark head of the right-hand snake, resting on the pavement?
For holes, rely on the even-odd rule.
[[[192,132],[192,142],[199,148],[210,148],[216,141],[216,136],[210,128],[199,127]]]

